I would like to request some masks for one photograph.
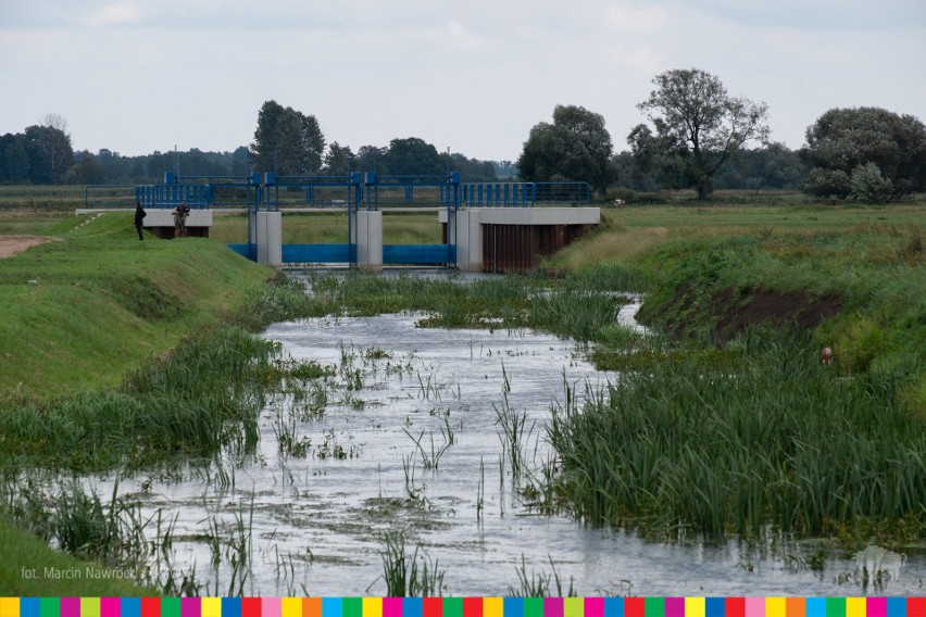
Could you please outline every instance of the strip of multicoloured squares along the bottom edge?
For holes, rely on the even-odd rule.
[[[926,597],[0,597],[0,617],[926,617]]]

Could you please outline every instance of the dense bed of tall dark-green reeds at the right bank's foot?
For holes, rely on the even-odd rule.
[[[626,373],[555,411],[554,483],[577,516],[712,536],[912,517],[926,534],[926,436],[896,381],[841,379],[794,333],[725,351]]]

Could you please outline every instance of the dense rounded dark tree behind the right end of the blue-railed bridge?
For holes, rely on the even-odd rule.
[[[534,125],[517,167],[525,181],[586,181],[604,192],[613,146],[604,117],[576,105],[556,105],[553,124]]]

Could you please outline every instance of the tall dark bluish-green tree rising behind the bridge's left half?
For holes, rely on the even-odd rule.
[[[322,167],[325,137],[315,116],[266,101],[258,113],[251,151],[258,171],[280,176],[313,174]]]

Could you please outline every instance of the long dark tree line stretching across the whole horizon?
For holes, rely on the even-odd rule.
[[[164,172],[186,176],[441,175],[466,181],[587,181],[599,193],[618,187],[652,192],[693,188],[701,199],[715,189],[800,189],[819,199],[885,202],[926,189],[926,127],[912,115],[879,108],[833,109],[790,150],[771,141],[768,108],[730,96],[721,79],[697,68],[656,75],[637,108],[645,123],[615,152],[601,114],[556,105],[552,123],[529,131],[521,156],[479,161],[438,151],[416,137],[356,152],[326,142],[312,115],[265,101],[254,140],[233,152],[153,152],[122,156],[107,149],[75,152],[67,123],[48,114],[22,134],[0,136],[0,182],[141,184]]]

